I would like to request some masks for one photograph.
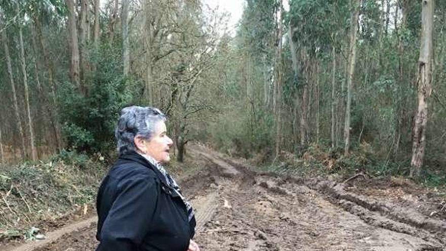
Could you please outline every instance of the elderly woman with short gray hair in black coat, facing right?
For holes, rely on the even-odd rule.
[[[122,110],[116,128],[119,159],[97,196],[97,251],[199,251],[194,210],[163,163],[172,139],[153,107]]]

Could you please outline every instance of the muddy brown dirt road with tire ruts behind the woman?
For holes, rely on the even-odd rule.
[[[414,208],[334,182],[255,173],[205,148],[189,153],[206,163],[181,182],[196,208],[201,250],[446,250],[446,222]],[[34,250],[94,250],[95,227]]]

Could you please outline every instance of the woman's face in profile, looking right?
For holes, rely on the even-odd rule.
[[[165,163],[170,160],[169,149],[173,144],[167,136],[166,124],[159,121],[155,124],[155,132],[150,141],[145,141],[145,153],[156,161]]]

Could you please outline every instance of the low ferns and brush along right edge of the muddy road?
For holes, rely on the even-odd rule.
[[[259,163],[259,159],[263,163]],[[359,172],[369,177],[407,178],[411,164],[410,158],[382,160],[368,144],[361,144],[348,157],[344,156],[343,149],[311,145],[302,154],[281,152],[278,158],[269,162],[255,156],[251,161],[263,171],[306,177],[337,175],[340,178],[348,178]],[[420,178],[414,182],[446,190],[446,170],[424,166]]]

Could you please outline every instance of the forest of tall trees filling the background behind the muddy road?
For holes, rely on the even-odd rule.
[[[3,0],[0,160],[113,155],[122,107],[159,107],[175,157],[443,183],[446,2]]]

